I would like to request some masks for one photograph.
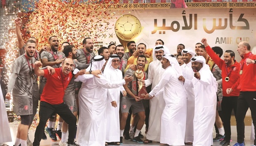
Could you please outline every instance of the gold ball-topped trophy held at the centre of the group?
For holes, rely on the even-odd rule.
[[[140,98],[145,98],[147,94],[146,87],[143,86],[143,77],[144,77],[144,72],[142,70],[136,70],[135,71],[135,76],[138,79],[138,97]]]

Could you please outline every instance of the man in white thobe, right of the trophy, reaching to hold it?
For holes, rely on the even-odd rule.
[[[184,146],[187,99],[183,83],[178,80],[182,71],[178,61],[172,54],[162,56],[162,67],[165,69],[162,79],[155,88],[146,95],[146,99],[164,92],[164,107],[161,116],[160,143],[171,146]]]

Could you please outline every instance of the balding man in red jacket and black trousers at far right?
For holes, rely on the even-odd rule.
[[[240,90],[237,100],[237,143],[234,146],[244,146],[244,117],[248,108],[251,110],[251,118],[256,131],[256,55],[250,52],[251,46],[248,42],[240,42],[237,51],[242,57],[240,61],[240,78],[227,93]],[[255,135],[256,136],[256,135]],[[254,146],[256,145],[256,138]]]

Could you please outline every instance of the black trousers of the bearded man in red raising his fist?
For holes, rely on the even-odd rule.
[[[221,110],[222,110],[222,121],[225,130],[225,139],[230,141],[231,139],[231,127],[230,127],[230,118],[232,114],[232,110],[234,110],[235,118],[237,119],[237,99],[238,96],[223,96],[221,102]]]

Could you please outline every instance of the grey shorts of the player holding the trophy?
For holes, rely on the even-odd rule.
[[[137,114],[140,111],[145,111],[142,100],[136,102],[134,99],[121,98],[120,108],[122,113],[129,113],[129,109],[132,109],[133,114]],[[131,114],[131,113],[130,113]]]

